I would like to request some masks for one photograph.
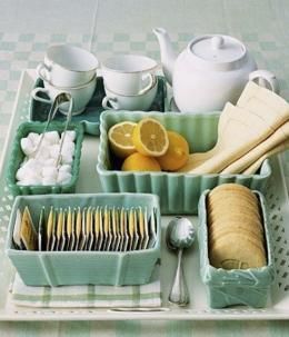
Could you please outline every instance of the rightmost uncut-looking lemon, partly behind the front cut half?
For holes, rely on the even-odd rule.
[[[189,160],[188,141],[178,132],[167,131],[169,148],[163,156],[157,158],[162,170],[175,171]]]

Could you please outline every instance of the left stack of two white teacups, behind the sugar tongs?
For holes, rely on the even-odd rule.
[[[83,112],[96,89],[98,65],[98,59],[82,48],[71,44],[51,46],[44,61],[37,67],[43,87],[33,89],[32,98],[51,105],[59,93],[67,92],[72,97],[72,115]],[[48,98],[43,98],[41,92]],[[69,102],[60,105],[59,110],[67,115]]]

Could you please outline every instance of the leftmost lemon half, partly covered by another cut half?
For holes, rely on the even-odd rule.
[[[126,158],[136,152],[136,147],[132,142],[132,131],[136,126],[136,122],[122,121],[109,129],[110,148],[117,157]]]

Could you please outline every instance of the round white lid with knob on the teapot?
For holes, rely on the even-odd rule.
[[[216,70],[239,68],[247,53],[239,40],[221,34],[197,38],[188,48],[200,66]]]

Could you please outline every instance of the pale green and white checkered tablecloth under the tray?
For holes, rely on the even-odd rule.
[[[170,30],[176,50],[182,50],[188,41],[198,34],[227,33],[245,42],[259,68],[268,69],[277,75],[281,96],[289,100],[288,0],[99,1],[101,6],[98,16],[93,17],[91,13],[93,29],[87,31],[80,27],[79,32],[73,27],[73,16],[80,13],[71,13],[72,19],[69,22],[73,27],[71,32],[69,29],[56,31],[52,26],[54,17],[49,11],[43,20],[50,20],[51,29],[30,31],[23,27],[29,27],[29,23],[24,24],[24,22],[31,18],[22,17],[20,9],[21,6],[31,6],[31,12],[37,16],[40,10],[36,6],[37,1],[31,1],[34,7],[29,1],[26,4],[20,0],[3,2],[7,2],[4,6],[8,10],[0,12],[14,16],[14,29],[10,29],[8,17],[2,17],[0,24],[0,153],[2,155],[21,71],[36,68],[43,59],[48,46],[52,43],[69,42],[81,46],[94,52],[100,60],[117,52],[146,53],[159,60],[159,47],[151,32],[155,26],[163,26]],[[51,1],[51,7],[56,7],[57,2]],[[60,2],[63,4],[63,1]],[[84,3],[88,3],[88,0]],[[19,11],[9,11],[16,4],[19,6]],[[3,7],[0,3],[1,6]],[[46,9],[48,6],[46,3]],[[138,6],[139,11],[136,18],[131,18],[133,14],[131,8],[134,10]],[[63,9],[64,6],[59,8],[60,12]],[[119,22],[118,14],[120,12],[123,14],[126,10],[127,17],[121,17],[122,22]],[[99,24],[96,24],[97,18],[100,18]],[[59,14],[59,20],[61,20],[61,14]],[[6,29],[6,22],[8,29]],[[27,109],[28,106],[23,108],[21,119],[27,118]],[[283,165],[286,178],[289,179],[288,153],[283,156]],[[1,269],[4,268],[3,246],[10,211],[10,206],[7,205],[10,205],[11,200],[7,200],[4,190],[0,191],[0,198]],[[289,336],[289,321],[14,321],[0,323],[0,336],[283,337]]]

